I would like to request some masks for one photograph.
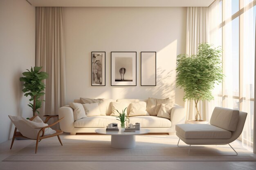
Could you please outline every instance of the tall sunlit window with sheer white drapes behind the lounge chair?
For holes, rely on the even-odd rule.
[[[241,137],[253,144],[254,53],[256,0],[219,0],[222,63],[225,80],[219,87],[218,105],[248,113]]]

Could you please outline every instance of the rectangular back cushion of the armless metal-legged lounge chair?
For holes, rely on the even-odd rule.
[[[229,131],[235,131],[239,119],[239,110],[215,107],[210,124]]]

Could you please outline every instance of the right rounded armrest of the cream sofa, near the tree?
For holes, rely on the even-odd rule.
[[[172,127],[175,129],[176,124],[185,123],[185,108],[182,106],[174,106],[171,110]]]

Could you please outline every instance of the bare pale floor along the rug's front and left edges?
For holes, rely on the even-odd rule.
[[[33,140],[0,144],[1,170],[255,170],[256,161],[2,161]]]

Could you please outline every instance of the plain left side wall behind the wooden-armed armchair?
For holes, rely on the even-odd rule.
[[[0,143],[13,135],[8,115],[33,116],[19,77],[35,65],[35,31],[35,7],[0,0]]]

